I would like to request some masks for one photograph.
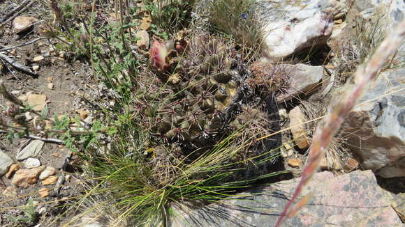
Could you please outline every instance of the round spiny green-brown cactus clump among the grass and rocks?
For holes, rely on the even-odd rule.
[[[239,142],[273,132],[274,124],[268,110],[278,111],[267,103],[267,98],[254,92],[255,87],[246,80],[249,71],[233,47],[207,35],[187,40],[184,33],[173,43],[175,49],[167,66],[156,62],[158,57],[151,56],[152,65],[156,65],[159,72],[165,70],[167,75],[157,75],[158,84],[154,81],[153,86],[163,86],[171,94],[170,98],[165,95],[149,98],[159,104],[153,116],[156,146],[162,146],[162,143],[175,146],[176,154],[171,154],[171,148],[168,148],[168,156],[177,157],[176,162],[183,159],[182,162],[187,163],[193,162],[235,130],[243,131],[240,138],[235,139]],[[151,91],[154,89],[145,88],[145,96]],[[271,150],[267,142],[252,143],[229,161],[240,162],[267,152]],[[271,144],[272,148],[274,144]],[[265,157],[268,155],[262,158]],[[252,162],[253,159],[245,165]],[[246,174],[253,173],[247,171]]]

